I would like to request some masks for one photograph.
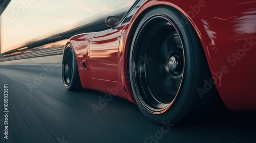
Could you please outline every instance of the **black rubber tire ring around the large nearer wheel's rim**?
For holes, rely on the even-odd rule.
[[[168,122],[168,121],[171,121],[172,123],[177,123],[189,112],[189,109],[193,106],[193,104],[195,103],[195,100],[197,100],[199,97],[199,95],[197,97],[197,92],[195,89],[199,85],[196,81],[199,79],[199,76],[197,75],[200,75],[200,73],[197,73],[197,74],[195,73],[198,72],[196,69],[200,69],[201,67],[200,63],[196,62],[200,60],[200,56],[198,56],[199,58],[197,58],[196,54],[200,53],[199,47],[201,46],[199,45],[198,38],[195,38],[195,35],[196,35],[195,30],[190,25],[190,23],[185,22],[183,20],[184,17],[179,12],[166,7],[156,7],[148,11],[139,22],[139,25],[135,32],[135,36],[132,40],[132,46],[130,51],[131,53],[130,63],[133,63],[132,54],[135,52],[134,46],[140,30],[143,28],[143,23],[150,17],[156,16],[156,15],[164,16],[170,22],[172,22],[182,41],[183,51],[184,51],[183,56],[185,57],[185,69],[184,69],[184,75],[183,75],[183,81],[182,81],[182,87],[181,87],[182,90],[180,90],[178,98],[175,100],[172,107],[170,107],[166,112],[162,114],[152,114],[150,112],[147,112],[144,109],[138,97],[136,96],[135,90],[137,90],[137,88],[134,87],[134,84],[133,84],[134,79],[132,76],[133,76],[134,69],[132,67],[132,64],[130,64],[130,69],[132,69],[130,70],[131,85],[132,85],[132,90],[134,93],[135,100],[140,110],[147,118],[149,118],[151,121],[155,123],[162,123],[162,122]]]

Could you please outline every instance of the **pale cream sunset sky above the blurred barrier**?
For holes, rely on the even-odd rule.
[[[1,53],[15,45],[135,0],[12,0],[1,15]]]

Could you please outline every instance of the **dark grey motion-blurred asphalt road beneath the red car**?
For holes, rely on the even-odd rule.
[[[256,142],[255,112],[201,115],[166,128],[148,121],[135,104],[114,97],[95,114],[92,104],[98,105],[104,93],[67,91],[61,67],[43,73],[44,67],[0,65],[0,142]]]

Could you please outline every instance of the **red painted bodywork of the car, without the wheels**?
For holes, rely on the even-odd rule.
[[[178,10],[194,27],[225,105],[233,111],[256,110],[256,1],[249,0],[148,0],[127,25],[73,36],[69,42],[82,87],[136,103],[127,69],[130,40],[137,21],[157,6]],[[203,92],[211,88],[207,80]]]

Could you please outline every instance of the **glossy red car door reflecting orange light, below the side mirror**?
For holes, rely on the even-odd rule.
[[[122,28],[97,33],[90,46],[92,78],[116,81],[118,78],[118,47]]]

